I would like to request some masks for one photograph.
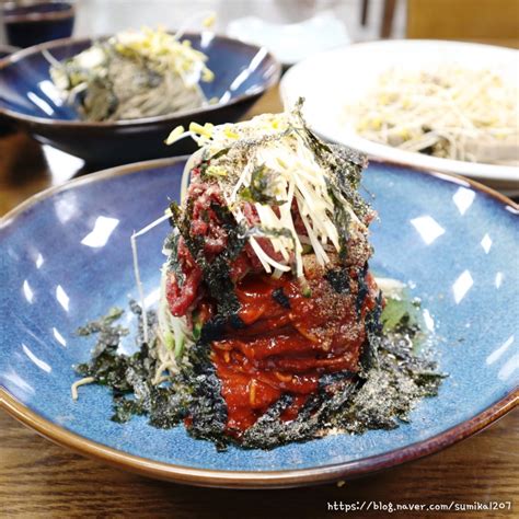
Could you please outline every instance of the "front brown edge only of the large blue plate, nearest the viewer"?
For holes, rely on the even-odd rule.
[[[217,488],[289,488],[331,483],[379,472],[392,466],[439,452],[491,426],[519,404],[519,389],[483,410],[477,415],[427,440],[360,460],[331,465],[289,471],[223,471],[196,469],[164,463],[129,454],[71,432],[31,411],[3,388],[0,388],[0,408],[54,443],[112,466],[155,480]]]

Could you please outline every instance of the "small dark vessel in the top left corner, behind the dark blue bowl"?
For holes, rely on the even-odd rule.
[[[35,1],[3,5],[5,35],[11,45],[26,48],[72,34],[76,8],[71,2]]]

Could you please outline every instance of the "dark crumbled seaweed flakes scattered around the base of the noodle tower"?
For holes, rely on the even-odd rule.
[[[390,300],[390,310],[391,304]],[[136,303],[130,307],[139,316],[140,308]],[[158,360],[153,349],[143,344],[141,330],[140,349],[136,354],[117,353],[120,338],[128,332],[116,324],[123,312],[114,309],[105,318],[79,328],[81,335],[96,334],[97,343],[91,360],[76,370],[112,389],[113,420],[125,423],[134,415],[146,415],[150,425],[158,428],[171,428],[185,420],[189,435],[212,441],[218,450],[237,442],[242,448],[272,449],[322,437],[330,429],[353,434],[393,429],[407,420],[417,401],[438,393],[445,374],[438,371],[436,362],[414,353],[413,343],[422,332],[405,307],[399,307],[396,312],[388,307],[384,313],[394,319],[400,312],[399,321],[382,333],[384,315],[380,316],[379,298],[366,320],[367,342],[359,373],[323,374],[316,394],[290,422],[281,419],[292,400],[289,394],[284,395],[238,440],[226,434],[227,406],[221,383],[209,359],[210,346],[203,339],[188,350],[188,367],[154,385]],[[154,313],[149,312],[148,319],[153,327]],[[205,335],[203,330],[201,336]],[[149,344],[157,338],[152,334]]]

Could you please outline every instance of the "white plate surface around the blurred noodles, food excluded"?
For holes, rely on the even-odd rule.
[[[292,67],[281,80],[285,107],[304,96],[310,126],[327,140],[356,148],[370,157],[470,176],[509,195],[519,194],[519,169],[505,165],[440,159],[371,142],[345,124],[344,107],[366,95],[379,76],[391,67],[410,70],[458,64],[465,68],[491,68],[506,81],[517,83],[519,51],[491,45],[445,41],[385,41],[336,48],[314,55]]]

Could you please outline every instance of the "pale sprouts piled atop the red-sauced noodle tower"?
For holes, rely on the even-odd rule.
[[[296,114],[296,113],[295,113]],[[292,201],[297,201],[301,219],[309,234],[316,261],[324,266],[330,253],[341,249],[335,224],[335,204],[328,193],[332,174],[318,162],[309,148],[304,130],[300,131],[301,119],[295,114],[266,114],[235,125],[211,127],[191,125],[189,131],[178,127],[171,134],[176,140],[193,137],[204,148],[206,157],[220,153],[210,161],[205,174],[212,175],[223,195],[226,205],[238,223],[245,228],[256,223],[243,214],[243,193],[249,193],[258,228],[265,231],[265,239],[272,243],[274,254],[267,253],[257,241],[249,238],[263,268],[267,273],[289,272],[292,267],[299,277],[303,276],[302,243],[305,237],[298,235],[292,217]],[[234,145],[238,142],[237,147]],[[233,150],[246,149],[250,154],[233,155]],[[229,157],[227,157],[229,153]],[[223,158],[222,158],[223,157]],[[239,159],[239,158],[242,159]],[[245,159],[243,159],[245,157]],[[186,170],[191,170],[186,168]],[[268,175],[263,178],[262,175]],[[184,172],[182,194],[185,199],[187,173]],[[265,191],[263,197],[257,197]],[[341,196],[341,195],[339,195]],[[346,199],[341,199],[351,222],[351,232],[366,232],[366,226],[357,217]],[[277,206],[277,207],[276,207]],[[254,220],[255,216],[252,219]],[[269,233],[268,231],[274,232]],[[278,232],[276,232],[278,231]],[[287,235],[287,231],[291,237]],[[274,256],[274,257],[273,257]]]

